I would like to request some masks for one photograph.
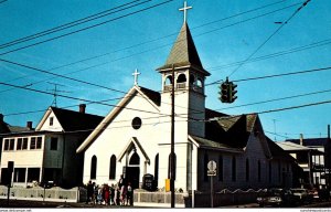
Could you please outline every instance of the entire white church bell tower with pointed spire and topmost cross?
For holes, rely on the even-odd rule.
[[[170,179],[172,174],[174,187],[192,190],[194,171],[192,161],[193,147],[189,135],[205,137],[205,94],[204,82],[210,75],[200,61],[189,25],[186,23],[188,7],[184,2],[184,22],[171,49],[166,64],[157,68],[162,76],[161,105],[159,123],[160,178]],[[174,98],[174,125],[171,126],[172,87]],[[174,130],[172,131],[172,127]],[[172,134],[173,132],[173,134]],[[173,146],[172,144],[172,135]],[[171,172],[171,155],[173,147],[174,170]],[[166,162],[168,161],[168,162]],[[177,174],[178,173],[178,174]]]

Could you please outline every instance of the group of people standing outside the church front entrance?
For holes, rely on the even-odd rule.
[[[86,204],[92,202],[105,205],[134,205],[134,189],[130,182],[126,183],[122,176],[116,186],[109,187],[105,183],[99,187],[89,180],[86,188]]]

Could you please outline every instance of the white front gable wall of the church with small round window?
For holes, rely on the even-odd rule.
[[[158,113],[158,110],[141,96],[135,96],[126,105],[128,108],[136,108],[137,105],[141,105],[145,110]],[[142,120],[141,128],[134,129],[131,127],[131,120],[135,117],[140,117]],[[156,117],[156,118],[151,118]],[[147,114],[143,112],[122,109],[113,121],[107,125],[106,129],[92,142],[89,148],[85,152],[85,168],[84,168],[84,182],[89,180],[90,159],[94,155],[97,156],[97,183],[116,183],[122,173],[122,167],[128,165],[129,158],[126,156],[119,160],[119,155],[124,151],[126,146],[130,142],[132,137],[138,139],[141,147],[145,148],[147,156],[149,157],[149,163],[145,165],[145,156],[141,150],[137,148],[137,152],[140,157],[140,182],[142,176],[146,172],[153,174],[154,170],[154,155],[158,151],[158,114]],[[116,179],[109,180],[109,162],[111,155],[117,158],[116,165]],[[160,157],[160,163],[162,159]],[[160,176],[159,176],[160,178]]]

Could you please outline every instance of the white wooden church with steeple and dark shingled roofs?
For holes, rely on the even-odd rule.
[[[150,173],[159,189],[166,187],[174,84],[175,190],[209,190],[210,160],[217,165],[214,191],[291,187],[293,160],[265,136],[258,115],[229,116],[205,107],[210,73],[201,63],[186,21],[166,64],[157,71],[161,92],[136,81],[77,148],[77,153],[84,153],[84,183],[117,183],[124,174],[138,188]]]

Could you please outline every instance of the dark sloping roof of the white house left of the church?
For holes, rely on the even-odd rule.
[[[95,129],[104,119],[102,116],[51,107],[64,131]]]

